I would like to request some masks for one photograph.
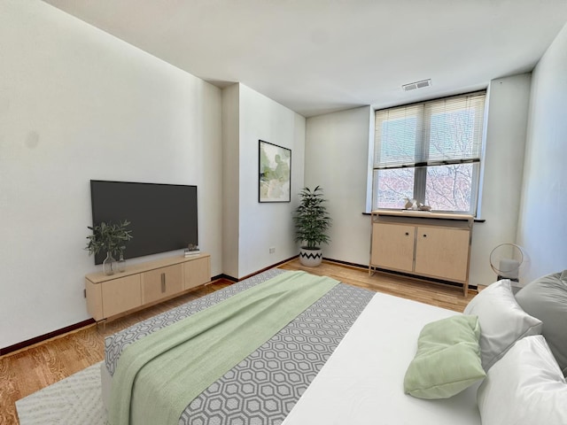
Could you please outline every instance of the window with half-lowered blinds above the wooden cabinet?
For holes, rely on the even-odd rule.
[[[376,112],[372,208],[475,214],[485,92]]]

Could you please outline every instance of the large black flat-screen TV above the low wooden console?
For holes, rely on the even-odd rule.
[[[197,186],[90,181],[93,225],[130,221],[124,259],[198,244]],[[102,264],[106,252],[95,256]]]

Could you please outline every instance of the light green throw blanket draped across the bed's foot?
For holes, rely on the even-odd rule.
[[[113,375],[110,422],[177,424],[194,398],[337,284],[285,272],[129,345]]]

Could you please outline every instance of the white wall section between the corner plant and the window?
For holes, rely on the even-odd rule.
[[[305,183],[321,186],[332,218],[323,257],[367,265],[370,218],[366,211],[372,108],[363,106],[307,119]]]

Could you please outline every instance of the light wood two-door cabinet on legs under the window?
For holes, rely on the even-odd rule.
[[[369,274],[408,274],[469,289],[474,217],[429,211],[372,212]]]

